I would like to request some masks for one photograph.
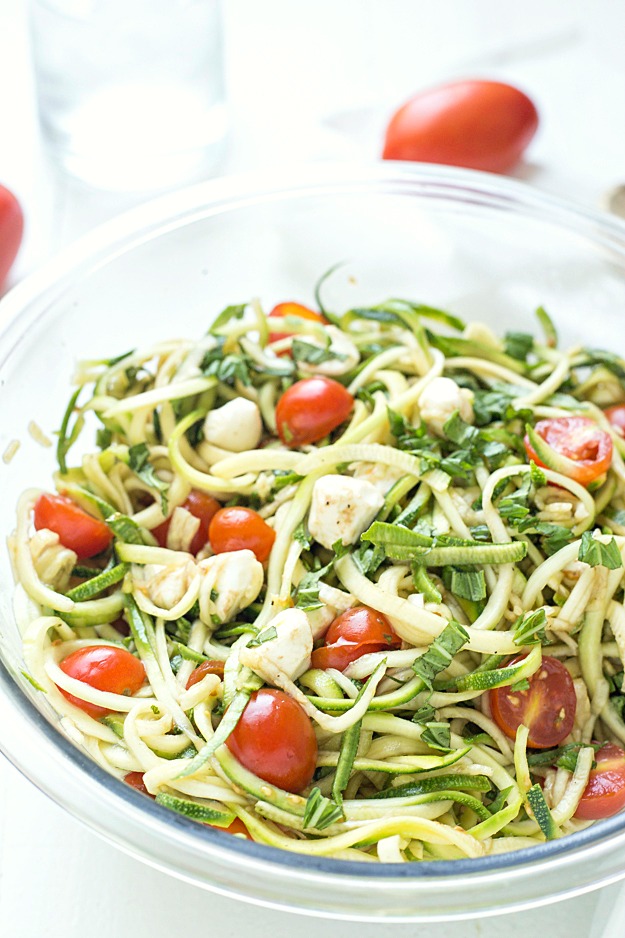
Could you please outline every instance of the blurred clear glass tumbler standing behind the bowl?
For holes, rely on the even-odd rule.
[[[65,171],[143,191],[217,168],[227,131],[219,0],[31,0],[41,127]]]

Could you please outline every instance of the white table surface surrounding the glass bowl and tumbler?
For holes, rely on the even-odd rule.
[[[132,0],[128,0],[132,2]],[[233,133],[223,172],[376,158],[384,117],[420,87],[455,77],[510,81],[540,115],[516,175],[600,207],[625,180],[625,6],[619,0],[225,0]],[[0,183],[26,216],[12,281],[143,196],[86,190],[47,164],[38,138],[25,0],[0,0]],[[0,319],[2,311],[0,308]],[[1,721],[1,716],[0,716]],[[1,734],[1,722],[0,722]],[[317,935],[314,919],[226,900],[103,843],[0,758],[0,929],[11,938],[258,938]],[[623,924],[621,924],[623,923]],[[340,925],[346,938],[419,926]],[[428,925],[437,938],[615,938],[625,896],[610,887],[544,910]]]

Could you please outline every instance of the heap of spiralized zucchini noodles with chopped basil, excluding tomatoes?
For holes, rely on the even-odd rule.
[[[539,319],[544,343],[500,339],[392,300],[340,316],[287,309],[277,330],[254,301],[197,342],[83,363],[54,482],[109,527],[111,546],[78,561],[35,531],[33,490],[10,541],[27,674],[61,728],[118,778],[140,773],[164,807],[222,828],[238,817],[254,840],[312,856],[480,857],[591,823],[575,815],[597,742],[625,743],[625,440],[605,414],[625,401],[625,363],[558,349],[544,310]],[[279,402],[315,375],[353,406],[324,438],[289,445]],[[571,417],[593,421],[610,447],[606,471],[585,484],[570,473],[579,454],[562,459],[532,429]],[[87,452],[70,464],[79,438]],[[356,520],[341,486],[360,493]],[[207,529],[192,550],[192,491],[257,512],[275,533],[268,560],[247,551],[233,573]],[[392,645],[342,670],[313,667],[313,638],[323,646],[357,606],[385,617]],[[302,629],[309,644],[293,663]],[[138,693],[61,669],[93,645],[141,659]],[[568,670],[576,700],[552,753],[532,738],[531,707],[515,735],[491,706],[501,688],[527,701],[545,656]],[[228,746],[267,685],[314,727],[316,769],[300,791]]]

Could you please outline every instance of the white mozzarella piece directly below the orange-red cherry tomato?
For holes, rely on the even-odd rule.
[[[201,560],[198,569],[202,574],[200,619],[207,625],[214,625],[213,616],[230,622],[254,602],[263,586],[263,565],[251,550],[214,554]]]

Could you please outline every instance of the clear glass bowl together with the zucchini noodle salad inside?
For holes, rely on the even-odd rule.
[[[0,746],[310,914],[625,877],[625,229],[406,164],[223,179],[3,300]]]

